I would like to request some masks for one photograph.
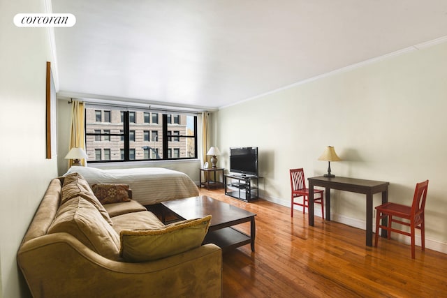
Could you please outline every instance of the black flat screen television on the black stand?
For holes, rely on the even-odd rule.
[[[258,176],[258,147],[230,147],[230,172]]]

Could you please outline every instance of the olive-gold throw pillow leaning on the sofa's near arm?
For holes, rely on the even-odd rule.
[[[119,253],[128,262],[145,262],[189,251],[202,244],[210,221],[209,215],[157,230],[122,230]]]

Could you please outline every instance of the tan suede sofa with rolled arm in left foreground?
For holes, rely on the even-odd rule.
[[[34,297],[221,297],[218,246],[126,260],[120,232],[163,223],[133,200],[98,204],[82,177],[71,188],[64,179],[51,181],[17,253]]]

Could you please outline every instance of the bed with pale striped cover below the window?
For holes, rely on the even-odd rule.
[[[101,183],[129,184],[133,200],[143,205],[198,195],[198,188],[188,175],[163,167],[103,170],[73,166],[66,174],[72,172],[81,174],[90,186]]]

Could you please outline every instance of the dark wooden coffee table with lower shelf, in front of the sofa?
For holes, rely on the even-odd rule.
[[[208,228],[208,233],[203,241],[204,244],[216,244],[222,248],[222,251],[250,244],[251,251],[254,251],[256,236],[254,217],[256,214],[226,202],[214,200],[206,195],[171,200],[161,202],[161,204],[181,219],[202,218],[211,214],[210,228]],[[164,212],[162,217],[165,222]],[[233,228],[233,225],[247,222],[250,222],[249,235]]]

